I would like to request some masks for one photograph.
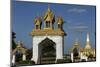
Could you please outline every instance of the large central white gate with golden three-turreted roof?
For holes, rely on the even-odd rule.
[[[34,29],[31,32],[33,39],[33,56],[31,60],[36,64],[40,63],[41,58],[46,58],[50,55],[55,56],[56,60],[63,59],[65,33],[62,30],[62,24],[63,18],[61,16],[55,17],[50,7],[48,7],[43,17],[34,19]],[[50,50],[50,48],[52,49]]]

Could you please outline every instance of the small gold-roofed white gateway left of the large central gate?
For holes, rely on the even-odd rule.
[[[12,63],[15,64],[19,61],[25,61],[26,55],[27,49],[23,46],[23,43],[21,41],[18,42],[16,48],[12,51]]]

